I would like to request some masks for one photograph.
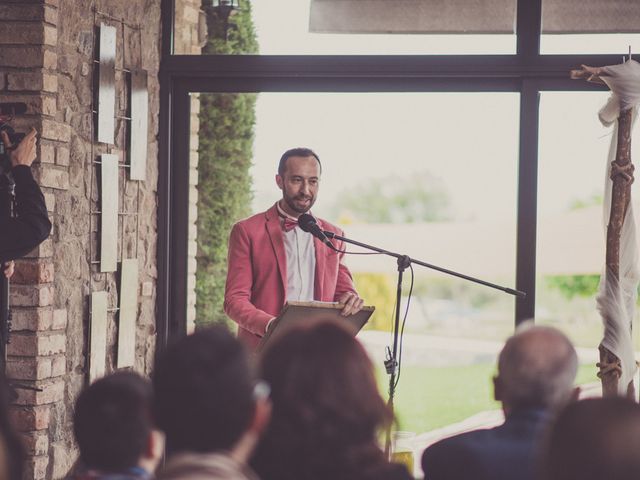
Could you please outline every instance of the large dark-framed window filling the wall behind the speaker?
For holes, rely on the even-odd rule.
[[[176,12],[174,7],[188,0],[164,1]],[[480,2],[502,5],[504,17],[498,26],[470,27],[468,33],[460,31],[460,23],[447,24],[444,13],[441,28],[424,31],[375,22],[366,32],[354,24],[319,26],[318,12],[351,3],[368,2],[256,0],[250,18],[254,55],[165,57],[160,131],[166,155],[160,188],[166,208],[160,262],[165,285],[158,295],[164,335],[184,331],[180,318],[193,287],[187,280],[193,265],[181,262],[193,249],[187,205],[196,194],[186,158],[197,157],[197,142],[190,138],[199,129],[194,123],[189,128],[189,101],[198,92],[238,101],[251,97],[255,138],[247,175],[253,200],[247,214],[277,200],[273,177],[281,153],[310,146],[325,165],[315,213],[339,223],[348,236],[527,293],[516,300],[416,267],[396,399],[403,426],[421,432],[495,408],[489,382],[495,354],[515,324],[533,317],[559,326],[587,348],[581,351],[585,366],[579,378],[594,380],[601,325],[593,289],[604,257],[599,195],[609,144],[597,111],[607,93],[602,86],[570,80],[569,70],[582,63],[619,63],[629,45],[632,54],[640,51],[638,34],[631,27],[585,22],[620,12],[614,10],[612,17],[612,11],[580,7],[577,0]],[[453,17],[469,20],[460,2],[448,4]],[[599,4],[624,7],[625,20],[635,18],[640,5]],[[231,43],[215,39],[215,48],[207,51],[223,53],[235,45],[234,22],[247,12],[231,17]],[[563,23],[572,14],[573,23]],[[248,28],[243,22],[237,28]],[[164,51],[171,46],[167,41]],[[233,133],[236,125],[226,127]],[[394,191],[415,192],[408,196],[414,204],[392,214],[378,211],[376,200],[391,198]],[[358,201],[362,198],[369,200]],[[416,214],[424,213],[420,202],[432,202],[429,215]],[[393,261],[353,257],[348,263],[365,298],[367,289],[394,290]],[[380,365],[391,308],[384,295],[373,296],[378,316],[361,338]],[[460,385],[467,390],[460,391]],[[452,407],[465,395],[471,400]],[[442,410],[435,407],[443,404]],[[448,428],[445,433],[457,427]]]

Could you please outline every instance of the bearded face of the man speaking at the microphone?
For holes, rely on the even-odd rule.
[[[293,217],[307,213],[313,206],[320,187],[320,165],[315,157],[289,157],[284,175],[276,175],[282,190],[280,207]]]

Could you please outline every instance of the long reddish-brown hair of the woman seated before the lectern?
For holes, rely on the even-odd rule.
[[[388,468],[377,434],[392,421],[373,366],[337,322],[291,328],[261,359],[273,417],[254,467],[264,480],[362,479]]]

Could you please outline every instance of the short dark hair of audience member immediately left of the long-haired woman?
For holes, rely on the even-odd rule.
[[[253,381],[243,346],[222,326],[180,339],[153,374],[158,426],[167,450],[228,450],[253,418]]]

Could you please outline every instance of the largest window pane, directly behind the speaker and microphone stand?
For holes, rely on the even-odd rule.
[[[200,95],[199,128],[192,128],[199,132],[199,147],[192,144],[199,151],[196,225],[199,237],[209,220],[227,230],[217,244],[198,239],[199,315],[200,302],[220,310],[220,295],[207,291],[223,289],[231,224],[281,198],[278,160],[299,146],[313,148],[322,160],[313,213],[347,237],[514,286],[517,94],[260,93],[253,110],[254,99]],[[234,175],[246,168],[247,141],[253,165],[247,176]],[[253,201],[243,200],[249,211],[231,218],[224,209],[212,214],[216,207],[208,199],[227,202],[246,179],[253,191]],[[222,267],[207,266],[207,255],[222,259]],[[396,260],[353,255],[346,262],[361,296],[376,306],[359,338],[386,396],[382,359],[391,345]],[[396,397],[401,428],[422,434],[485,410],[493,413],[483,418],[499,421],[490,379],[501,342],[513,331],[513,297],[418,265],[414,272]],[[407,270],[403,310],[410,283]],[[207,314],[198,318],[208,320]],[[437,430],[421,441],[443,435]]]

